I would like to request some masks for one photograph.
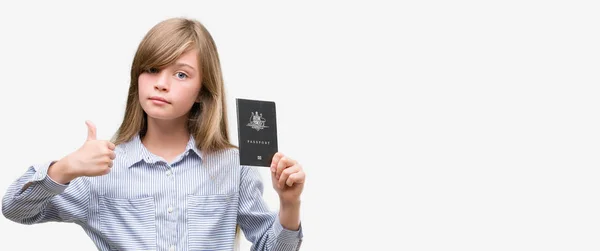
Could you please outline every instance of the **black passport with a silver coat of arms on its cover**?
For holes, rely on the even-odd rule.
[[[275,102],[236,99],[240,165],[270,167],[277,153]]]

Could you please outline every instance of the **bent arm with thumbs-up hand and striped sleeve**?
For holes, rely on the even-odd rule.
[[[8,188],[2,214],[14,222],[85,222],[90,188],[83,176],[107,174],[116,155],[115,145],[96,140],[96,126],[86,121],[88,137],[77,151],[58,162],[30,167]]]

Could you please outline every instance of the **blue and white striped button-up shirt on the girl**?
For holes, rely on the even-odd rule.
[[[237,149],[204,154],[193,137],[167,163],[136,136],[118,145],[111,172],[66,185],[34,165],[2,200],[21,224],[80,225],[99,250],[232,250],[239,224],[252,250],[298,250],[302,230],[284,229],[263,200],[257,170],[241,166]]]

